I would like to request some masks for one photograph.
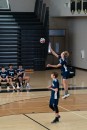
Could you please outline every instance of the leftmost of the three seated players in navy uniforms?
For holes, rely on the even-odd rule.
[[[9,91],[10,88],[9,88],[8,73],[4,67],[2,67],[0,70],[0,91],[1,91],[1,82],[7,82],[7,91]]]

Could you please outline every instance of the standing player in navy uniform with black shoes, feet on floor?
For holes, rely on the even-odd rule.
[[[51,90],[51,97],[50,97],[50,102],[49,102],[49,107],[55,111],[55,119],[51,123],[56,123],[59,122],[59,109],[58,109],[58,102],[59,102],[59,81],[57,79],[58,73],[53,72],[51,73],[51,78],[52,78],[52,85],[49,86],[48,88]]]

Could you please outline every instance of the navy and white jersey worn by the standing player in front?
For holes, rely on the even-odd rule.
[[[53,80],[52,88],[53,89],[58,88],[58,91],[55,92],[55,91],[51,90],[51,99],[58,99],[59,98],[59,81],[58,81],[58,79]]]

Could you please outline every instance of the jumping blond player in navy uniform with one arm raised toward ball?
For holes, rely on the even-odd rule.
[[[67,67],[67,60],[69,53],[67,51],[64,51],[61,53],[61,56],[56,54],[53,49],[50,47],[50,50],[54,56],[59,58],[59,63],[57,65],[51,65],[48,64],[47,67],[53,67],[53,68],[61,68],[61,75],[62,75],[62,84],[64,87],[64,96],[62,97],[63,99],[67,98],[70,96],[68,93],[68,78],[69,78],[69,69]]]

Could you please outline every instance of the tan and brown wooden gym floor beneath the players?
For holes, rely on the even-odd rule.
[[[63,95],[60,70],[26,72],[30,92],[0,93],[0,130],[87,130],[87,72],[76,70],[69,79],[70,97],[60,97],[60,121],[51,124],[54,113],[49,109],[50,74],[59,72],[60,94]]]

